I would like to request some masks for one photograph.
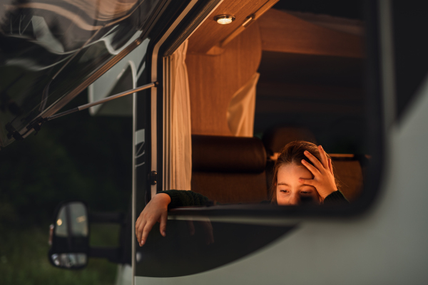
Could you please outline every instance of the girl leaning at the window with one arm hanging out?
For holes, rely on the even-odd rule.
[[[270,202],[278,205],[347,203],[337,190],[332,160],[322,146],[298,140],[282,149],[273,168]],[[136,222],[136,236],[140,247],[156,222],[161,223],[165,237],[168,207],[203,206],[212,204],[208,197],[192,191],[168,190],[155,195]]]

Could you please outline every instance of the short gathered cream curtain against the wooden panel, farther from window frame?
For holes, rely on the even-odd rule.
[[[255,86],[260,73],[245,83],[229,103],[227,118],[230,132],[237,137],[253,137],[255,113]]]

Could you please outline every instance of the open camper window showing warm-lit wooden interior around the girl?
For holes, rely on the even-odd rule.
[[[305,1],[260,1],[258,9],[220,4],[168,57],[178,68],[170,73],[175,85],[165,90],[171,125],[163,140],[170,158],[158,191],[191,189],[222,204],[269,201],[282,147],[305,140],[331,156],[347,200],[364,199],[365,172],[378,157],[368,124],[366,21],[360,1],[352,3],[316,8]],[[258,11],[253,19],[245,18],[252,9]],[[218,24],[215,14],[229,10],[235,21]],[[236,24],[243,19],[250,20]],[[188,127],[174,117],[187,109],[172,99],[187,94],[178,84],[183,62]],[[191,176],[174,141],[182,130],[191,141]]]

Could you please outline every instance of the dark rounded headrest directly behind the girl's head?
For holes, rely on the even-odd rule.
[[[263,134],[263,144],[266,150],[271,152],[281,152],[282,147],[287,145],[288,142],[294,142],[295,140],[317,142],[315,135],[307,128],[281,127],[267,130]]]

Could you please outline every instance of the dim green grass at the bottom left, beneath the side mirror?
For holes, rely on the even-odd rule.
[[[100,231],[93,229],[95,236],[99,236],[97,232]],[[88,266],[81,270],[52,266],[47,256],[48,236],[47,224],[44,227],[22,229],[0,224],[1,285],[114,284],[117,265],[103,259],[89,259]],[[91,244],[92,241],[91,238]]]

